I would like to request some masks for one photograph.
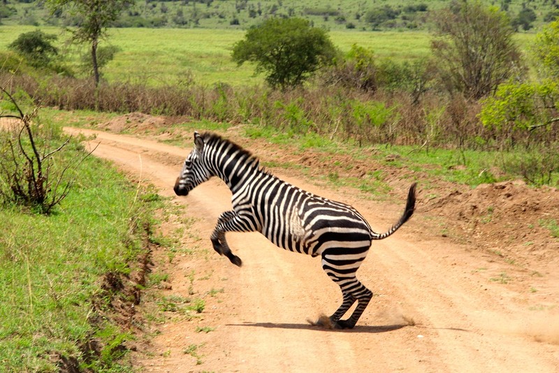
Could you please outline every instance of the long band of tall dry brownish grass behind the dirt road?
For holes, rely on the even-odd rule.
[[[460,96],[426,92],[421,103],[405,91],[361,92],[343,87],[316,87],[278,92],[263,86],[227,85],[143,87],[126,83],[101,85],[89,80],[29,75],[9,79],[43,105],[64,110],[141,111],[154,115],[184,115],[217,122],[250,122],[292,133],[322,136],[342,134],[362,144],[391,143],[422,147],[502,149],[506,146],[477,117],[480,105]],[[537,144],[558,133],[514,131],[517,144]]]

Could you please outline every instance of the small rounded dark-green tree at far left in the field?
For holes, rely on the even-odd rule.
[[[45,34],[37,29],[20,34],[8,48],[24,57],[29,65],[44,68],[51,64],[58,54],[57,47],[52,45],[56,40],[56,35]]]

